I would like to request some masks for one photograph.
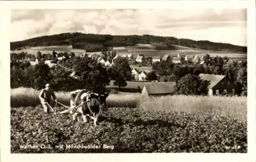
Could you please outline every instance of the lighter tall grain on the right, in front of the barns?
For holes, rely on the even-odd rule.
[[[177,111],[247,120],[247,97],[161,96],[141,98],[138,107],[148,111]]]

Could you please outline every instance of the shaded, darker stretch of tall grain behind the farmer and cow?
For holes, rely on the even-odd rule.
[[[32,88],[16,88],[11,89],[11,107],[20,106],[36,106],[40,104],[39,100],[40,91]],[[55,92],[58,102],[70,105],[70,93],[68,92]],[[106,98],[106,104],[109,107],[136,107],[139,101],[140,94],[110,94]],[[54,105],[52,100],[52,105]],[[60,106],[58,104],[58,106]]]

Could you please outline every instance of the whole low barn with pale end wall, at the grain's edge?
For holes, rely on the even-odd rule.
[[[145,83],[141,92],[143,97],[174,94],[175,82]]]

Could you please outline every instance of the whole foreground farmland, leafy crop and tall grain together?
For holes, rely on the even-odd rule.
[[[247,152],[246,97],[110,94],[94,127],[42,113],[38,93],[11,90],[11,153]],[[56,95],[68,104],[69,93]]]

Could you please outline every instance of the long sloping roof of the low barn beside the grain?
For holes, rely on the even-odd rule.
[[[175,82],[145,83],[144,87],[148,94],[167,94],[174,92]]]

